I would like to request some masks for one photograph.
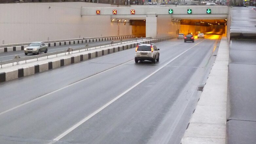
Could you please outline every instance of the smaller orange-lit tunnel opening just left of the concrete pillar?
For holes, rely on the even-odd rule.
[[[146,20],[130,20],[132,35],[146,36]]]

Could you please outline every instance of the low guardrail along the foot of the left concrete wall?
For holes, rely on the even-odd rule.
[[[54,40],[54,41],[43,41],[43,42],[44,43],[58,43],[58,42],[67,42],[67,41],[102,39],[102,38],[124,37],[124,36],[132,36],[132,35],[120,35],[120,36],[109,36],[109,37],[91,37],[91,38],[77,38],[77,39],[65,39],[65,40]],[[19,46],[19,45],[28,45],[28,44],[30,44],[30,43],[7,44],[7,45],[0,45],[0,47]]]

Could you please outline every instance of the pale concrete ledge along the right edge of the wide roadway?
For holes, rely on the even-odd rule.
[[[216,60],[182,144],[225,144],[229,44],[222,37]]]

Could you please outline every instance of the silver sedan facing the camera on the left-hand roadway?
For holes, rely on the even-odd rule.
[[[48,45],[43,42],[33,42],[30,43],[26,48],[24,48],[25,55],[31,54],[40,54],[41,52],[47,53]]]

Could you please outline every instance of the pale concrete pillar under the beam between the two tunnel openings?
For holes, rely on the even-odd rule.
[[[157,17],[155,14],[148,14],[146,17],[146,37],[156,38]]]

